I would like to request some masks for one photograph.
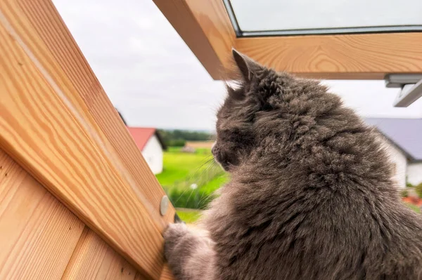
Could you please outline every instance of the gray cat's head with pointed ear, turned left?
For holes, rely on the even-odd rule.
[[[324,114],[333,105],[330,103],[340,103],[338,98],[321,100],[326,88],[317,81],[276,72],[236,50],[232,53],[240,79],[236,88],[227,86],[228,95],[217,113],[217,141],[212,148],[216,161],[226,171],[240,166],[257,151],[278,149],[286,142],[291,124],[312,121],[305,114]],[[312,98],[319,103],[309,102]]]

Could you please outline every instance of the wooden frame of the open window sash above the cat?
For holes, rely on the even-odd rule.
[[[237,37],[222,0],[153,0],[213,79],[231,48],[257,62],[315,79],[384,79],[422,72],[422,32]]]

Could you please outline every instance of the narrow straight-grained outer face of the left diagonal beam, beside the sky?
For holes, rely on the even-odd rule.
[[[116,161],[136,192],[150,202],[151,211],[158,214],[160,201],[165,192],[148,168],[132,136],[122,123],[120,116],[108,99],[87,60],[56,8],[49,0],[8,0],[8,21],[40,65],[49,73],[56,84],[61,84],[63,93],[79,106],[79,113],[102,133],[102,141],[115,154]],[[80,98],[72,98],[77,93]],[[172,206],[162,218],[165,222],[174,220]],[[155,219],[160,219],[159,215]],[[158,228],[163,223],[158,221]]]

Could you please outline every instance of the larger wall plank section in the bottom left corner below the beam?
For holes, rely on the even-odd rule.
[[[84,225],[0,150],[0,279],[59,279]]]

